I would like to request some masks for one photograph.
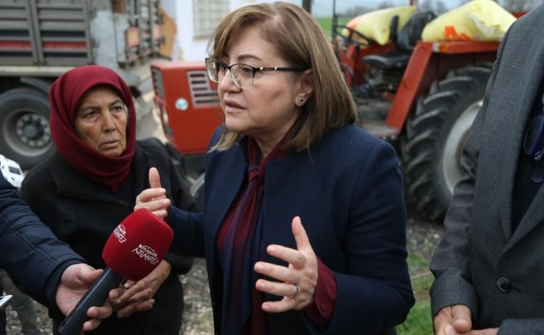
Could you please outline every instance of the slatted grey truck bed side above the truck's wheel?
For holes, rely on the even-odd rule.
[[[138,66],[159,24],[158,0],[0,0],[0,66]]]

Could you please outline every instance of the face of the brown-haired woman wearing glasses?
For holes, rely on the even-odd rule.
[[[233,36],[225,64],[243,63],[255,67],[287,67],[275,47],[266,42],[256,27],[247,27]],[[218,84],[225,125],[229,131],[255,137],[257,142],[275,144],[299,117],[295,78],[299,73],[259,71],[249,89],[236,87],[229,70]]]

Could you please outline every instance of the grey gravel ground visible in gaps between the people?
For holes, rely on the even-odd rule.
[[[409,220],[408,224],[408,251],[417,253],[425,260],[430,260],[435,247],[441,239],[444,229],[441,225],[423,221]],[[418,273],[425,274],[428,269],[416,269]],[[213,334],[213,321],[211,318],[211,301],[206,276],[206,264],[198,259],[187,276],[180,277],[185,290],[186,311],[183,315],[184,335],[210,335]],[[41,334],[52,334],[51,322],[47,317],[47,310],[40,304],[36,304],[38,310],[38,322],[40,322]],[[17,314],[8,306],[8,335],[22,335]]]

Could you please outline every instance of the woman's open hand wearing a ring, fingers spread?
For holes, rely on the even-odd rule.
[[[271,244],[266,251],[275,258],[289,263],[289,267],[267,262],[255,263],[255,271],[278,281],[267,281],[260,278],[256,283],[257,290],[283,297],[280,301],[266,301],[263,311],[279,313],[289,309],[302,309],[314,301],[315,285],[317,285],[317,257],[310,246],[310,240],[304,230],[301,218],[295,216],[292,230],[296,240],[296,248],[286,248]]]

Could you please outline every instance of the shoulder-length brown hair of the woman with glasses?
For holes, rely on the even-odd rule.
[[[330,43],[317,21],[292,3],[275,2],[243,6],[229,13],[218,25],[208,44],[210,57],[220,59],[231,38],[255,25],[289,66],[313,70],[313,93],[301,107],[287,134],[283,149],[309,149],[331,128],[356,120],[356,105]],[[213,149],[231,148],[240,134],[224,131]]]

